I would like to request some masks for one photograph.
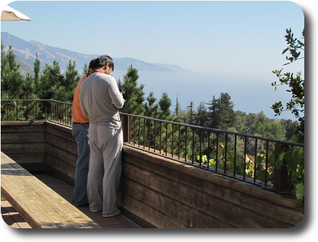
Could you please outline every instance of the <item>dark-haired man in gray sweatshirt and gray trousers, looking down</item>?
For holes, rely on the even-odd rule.
[[[79,90],[82,111],[90,119],[88,203],[90,211],[102,211],[103,217],[121,213],[117,208],[117,188],[121,176],[123,132],[118,108],[123,107],[125,100],[110,75],[113,70],[112,58],[99,56],[97,68]]]

